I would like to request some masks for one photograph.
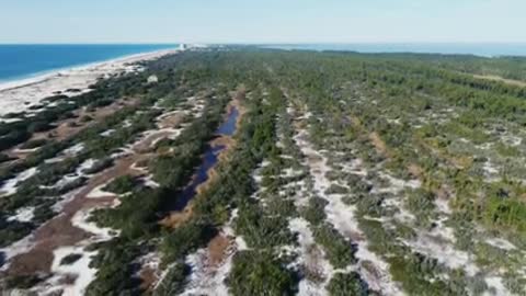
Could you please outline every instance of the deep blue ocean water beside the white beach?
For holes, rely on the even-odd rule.
[[[0,45],[0,81],[176,46],[175,44]]]

